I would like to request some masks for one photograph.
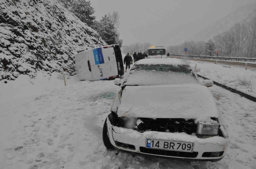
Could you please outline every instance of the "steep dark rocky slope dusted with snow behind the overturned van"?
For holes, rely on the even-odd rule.
[[[96,31],[56,0],[1,0],[0,80],[63,68],[74,72],[74,54],[106,45]]]

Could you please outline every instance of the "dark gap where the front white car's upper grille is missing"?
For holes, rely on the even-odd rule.
[[[143,123],[138,126],[138,131],[160,131],[160,132],[185,132],[187,134],[196,133],[197,124],[193,119],[183,118],[140,118]]]

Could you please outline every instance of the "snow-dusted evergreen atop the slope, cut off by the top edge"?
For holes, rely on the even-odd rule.
[[[71,11],[79,18],[82,22],[86,23],[88,26],[94,24],[95,16],[94,8],[91,6],[91,1],[76,0],[72,6]]]

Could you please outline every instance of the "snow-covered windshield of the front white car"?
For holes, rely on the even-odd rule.
[[[124,85],[168,85],[196,83],[188,65],[134,65]]]

